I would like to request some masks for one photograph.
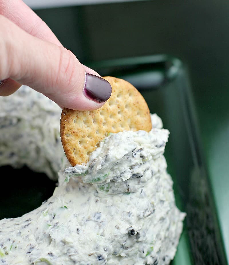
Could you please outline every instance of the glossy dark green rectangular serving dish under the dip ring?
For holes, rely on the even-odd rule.
[[[167,170],[173,178],[176,205],[187,213],[171,264],[227,264],[201,152],[192,92],[182,62],[155,55],[91,62],[87,66],[102,76],[116,76],[132,83],[147,101],[150,112],[157,113],[164,128],[170,131],[165,148]],[[37,208],[56,186],[45,174],[26,167],[3,166],[0,172],[7,176],[1,179],[0,219]]]

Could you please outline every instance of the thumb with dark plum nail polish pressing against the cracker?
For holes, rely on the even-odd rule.
[[[0,80],[9,78],[0,95],[16,81],[69,109],[98,109],[110,97],[110,84],[66,48],[29,35],[1,15],[0,25]]]

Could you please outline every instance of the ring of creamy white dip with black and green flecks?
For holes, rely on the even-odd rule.
[[[31,91],[25,95],[32,97],[35,105],[41,107],[46,98],[39,98],[37,95],[40,94]],[[9,100],[12,109],[17,105],[19,93],[22,92],[15,93]],[[23,104],[29,105],[29,98]],[[55,117],[60,115],[56,106],[52,109],[54,103],[50,101],[49,104],[51,113],[56,113]],[[2,108],[1,102],[0,106]],[[3,107],[7,109],[8,106]],[[43,127],[42,119],[52,119],[55,124],[51,128],[56,130],[60,116],[57,121],[49,111],[43,110],[46,115],[40,115],[39,121],[41,110],[37,107],[36,111],[42,145],[40,142],[36,144],[41,149],[47,148],[53,144],[53,129],[46,138],[44,131],[47,128]],[[30,121],[34,115],[32,110],[27,112]],[[20,114],[18,116],[20,119]],[[39,208],[22,217],[1,220],[0,264],[169,264],[176,252],[185,213],[175,206],[173,182],[163,156],[169,131],[161,129],[162,122],[156,114],[151,117],[153,129],[149,133],[124,131],[110,134],[91,154],[87,164],[59,172],[59,186]],[[27,119],[22,113],[21,118]],[[2,115],[2,119],[8,117]],[[11,119],[13,117],[9,118],[7,127],[11,136],[18,135],[19,129],[22,135],[23,131],[30,135],[29,122],[25,122],[25,127],[17,127]],[[59,140],[51,147],[55,155],[40,150],[32,158],[28,157],[29,162],[23,160],[20,158],[21,138],[15,138],[14,143],[19,150],[19,154],[15,154],[17,164],[27,163],[34,170],[46,173],[55,171],[57,166],[59,170],[61,159],[69,166],[66,158],[63,159]],[[9,153],[13,146],[13,143],[7,143],[3,149]],[[23,148],[31,152],[31,146]],[[41,159],[40,166],[45,164],[46,167],[42,169],[38,164],[33,167],[33,159]],[[9,164],[9,160],[5,156],[4,163]]]

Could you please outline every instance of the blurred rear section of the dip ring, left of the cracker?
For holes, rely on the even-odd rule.
[[[0,166],[27,165],[57,179],[65,158],[60,140],[62,109],[53,101],[22,86],[0,97]]]

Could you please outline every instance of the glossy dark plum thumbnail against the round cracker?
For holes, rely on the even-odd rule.
[[[86,73],[84,95],[95,102],[104,102],[111,95],[111,85],[108,81],[94,74]]]

